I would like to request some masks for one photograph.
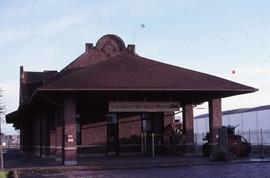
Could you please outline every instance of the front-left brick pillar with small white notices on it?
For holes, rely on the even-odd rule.
[[[77,164],[76,147],[76,101],[73,97],[64,98],[64,165]]]

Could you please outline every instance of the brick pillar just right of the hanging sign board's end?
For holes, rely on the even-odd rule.
[[[185,134],[185,153],[194,153],[194,126],[193,126],[193,105],[183,107],[183,132]]]

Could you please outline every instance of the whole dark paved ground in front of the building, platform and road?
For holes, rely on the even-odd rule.
[[[77,166],[62,166],[54,160],[8,152],[5,168],[21,177],[270,177],[270,157],[258,156],[225,163],[209,158],[177,156],[80,157]]]

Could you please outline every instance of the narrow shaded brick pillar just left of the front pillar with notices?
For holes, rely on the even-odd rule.
[[[55,161],[63,161],[63,117],[60,110],[55,110]]]

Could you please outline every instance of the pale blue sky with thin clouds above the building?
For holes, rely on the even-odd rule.
[[[18,107],[19,66],[61,70],[108,33],[139,55],[259,88],[224,99],[223,110],[270,104],[269,9],[268,0],[0,1],[6,112]]]

